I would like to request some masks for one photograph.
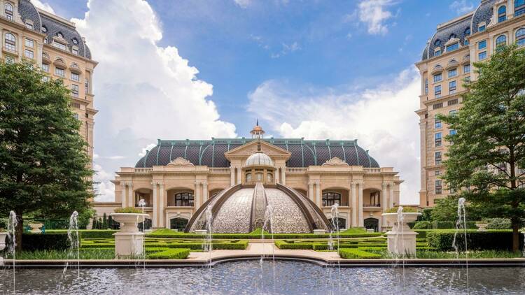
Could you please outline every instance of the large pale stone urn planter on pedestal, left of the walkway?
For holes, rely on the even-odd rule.
[[[111,218],[120,223],[115,236],[116,257],[137,257],[144,254],[144,233],[139,231],[139,222],[149,217],[141,213],[111,213]]]

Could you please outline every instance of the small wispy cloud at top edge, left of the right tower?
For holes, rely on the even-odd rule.
[[[388,32],[386,20],[393,17],[386,6],[391,6],[393,0],[362,0],[358,4],[358,15],[361,22],[367,25],[368,33],[372,35],[384,35]]]

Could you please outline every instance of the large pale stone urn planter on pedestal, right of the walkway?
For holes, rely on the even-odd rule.
[[[388,242],[388,252],[395,256],[405,255],[415,256],[416,236],[418,233],[412,231],[408,226],[409,222],[414,222],[421,213],[400,213],[402,214],[402,226],[398,226],[398,213],[383,213],[386,222],[393,224],[391,231],[386,233]]]

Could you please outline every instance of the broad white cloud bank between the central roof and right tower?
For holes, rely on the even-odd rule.
[[[400,172],[402,202],[419,203],[419,91],[415,69],[357,93],[269,80],[248,94],[248,110],[285,138],[357,138],[381,166]]]

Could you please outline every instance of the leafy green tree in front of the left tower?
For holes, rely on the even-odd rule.
[[[27,62],[0,63],[0,215],[15,211],[18,250],[25,214],[69,217],[92,198],[87,143],[69,89],[43,77]]]

